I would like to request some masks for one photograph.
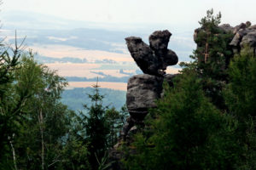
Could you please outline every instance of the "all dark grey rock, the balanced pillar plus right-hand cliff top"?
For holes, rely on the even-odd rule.
[[[219,26],[224,33],[232,33],[234,37],[230,39],[228,46],[233,49],[234,54],[239,53],[241,48],[247,45],[253,49],[255,54],[256,48],[256,25],[251,26],[250,22],[241,23],[232,27],[229,24]],[[199,44],[196,38],[201,28],[195,30],[194,40],[197,46]],[[131,134],[137,132],[136,125],[143,124],[144,117],[148,114],[149,108],[156,107],[155,100],[159,99],[164,93],[162,83],[164,80],[173,86],[172,79],[176,75],[166,74],[166,67],[177,64],[177,54],[168,49],[168,42],[172,34],[169,31],[154,31],[149,36],[149,45],[143,42],[140,37],[126,37],[125,41],[131,53],[131,57],[141,68],[144,74],[136,75],[129,79],[126,94],[126,105],[130,113],[127,118],[123,131],[122,139],[110,150],[110,161],[115,161],[111,169],[122,169],[120,159],[124,153],[119,151],[121,141],[125,140],[125,144],[132,142]],[[233,55],[232,55],[233,56]],[[130,150],[131,152],[135,150]]]

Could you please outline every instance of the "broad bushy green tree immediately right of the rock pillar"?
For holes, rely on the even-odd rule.
[[[232,169],[239,161],[236,126],[205,97],[193,71],[165,86],[165,97],[137,134],[128,169]],[[234,143],[235,142],[235,143]]]

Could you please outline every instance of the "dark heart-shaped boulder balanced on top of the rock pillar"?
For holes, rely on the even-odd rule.
[[[172,34],[169,31],[154,31],[149,36],[149,44],[140,37],[126,37],[125,41],[131,57],[143,73],[155,76],[166,74],[166,67],[177,64],[177,54],[167,49]]]

